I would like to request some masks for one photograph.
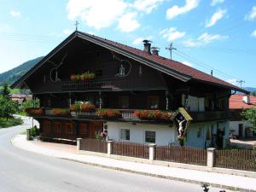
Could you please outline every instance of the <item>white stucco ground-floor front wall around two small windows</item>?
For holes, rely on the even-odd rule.
[[[113,141],[122,141],[120,139],[120,130],[130,130],[131,143],[145,143],[145,131],[155,131],[155,143],[157,145],[167,145],[177,143],[177,131],[169,125],[148,125],[132,123],[108,122],[108,137]]]

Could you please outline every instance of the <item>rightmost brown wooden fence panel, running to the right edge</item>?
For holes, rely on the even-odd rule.
[[[216,150],[214,166],[256,172],[253,150]]]

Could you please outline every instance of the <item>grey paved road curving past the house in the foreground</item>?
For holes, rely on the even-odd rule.
[[[26,119],[24,125],[0,129],[0,192],[202,191],[197,184],[87,166],[15,148],[11,137],[30,125]]]

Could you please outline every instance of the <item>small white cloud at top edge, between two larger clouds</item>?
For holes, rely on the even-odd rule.
[[[136,0],[133,7],[137,10],[150,14],[152,10],[156,9],[157,6],[164,0]]]

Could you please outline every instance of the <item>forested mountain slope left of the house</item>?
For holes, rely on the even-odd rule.
[[[13,84],[16,80],[20,79],[29,69],[34,67],[38,61],[42,60],[44,56],[40,56],[36,59],[26,61],[20,66],[15,67],[7,72],[0,73],[0,85],[4,84]]]

